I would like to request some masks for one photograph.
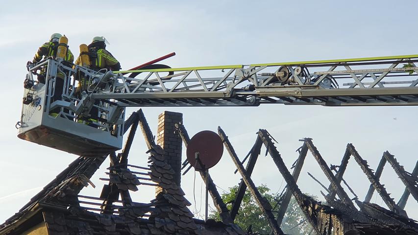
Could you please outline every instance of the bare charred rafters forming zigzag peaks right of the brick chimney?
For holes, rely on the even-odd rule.
[[[186,128],[183,125],[177,125],[177,131],[187,146],[187,141],[189,138]],[[379,164],[378,171],[374,173],[373,170],[369,168],[367,161],[361,158],[360,154],[351,143],[347,144],[347,148],[345,150],[341,164],[331,164],[331,167],[329,167],[323,157],[320,155],[320,152],[314,145],[312,139],[302,139],[301,141],[303,141],[303,145],[298,149],[299,157],[295,162],[294,167],[292,167],[294,168],[294,171],[291,174],[289,169],[284,164],[277,148],[274,146],[273,141],[275,140],[267,132],[267,130],[259,130],[257,133],[256,142],[242,161],[238,160],[238,156],[235,153],[232,144],[229,142],[225,132],[221,129],[221,127],[218,127],[218,133],[224,143],[225,148],[231,156],[232,161],[237,166],[236,172],[238,171],[242,176],[242,180],[239,184],[239,190],[237,191],[232,210],[230,211],[230,217],[232,219],[235,218],[237,212],[239,213],[242,199],[240,188],[244,188],[244,192],[246,188],[248,188],[254,200],[257,202],[260,210],[263,211],[266,218],[268,218],[272,234],[283,234],[283,231],[280,229],[280,225],[292,196],[295,197],[297,204],[306,217],[306,221],[312,226],[313,232],[315,234],[418,234],[417,222],[407,217],[407,213],[404,211],[404,205],[402,206],[402,203],[405,203],[405,200],[408,199],[408,195],[412,193],[411,191],[417,192],[417,167],[414,169],[413,173],[409,173],[405,171],[403,167],[398,166],[396,161],[388,160],[393,162],[393,167],[395,167],[399,172],[397,174],[402,174],[404,177],[402,182],[404,182],[406,186],[405,193],[403,194],[400,202],[396,204],[394,199],[390,197],[390,193],[388,193],[387,189],[384,188],[384,185],[379,181],[379,177],[383,170],[382,163]],[[257,188],[251,180],[251,173],[254,168],[256,159],[260,154],[260,148],[262,144],[264,144],[267,148],[267,151],[272,157],[274,164],[276,164],[279,172],[282,174],[284,180],[287,183],[285,194],[279,198],[278,210],[275,211],[277,212],[276,214],[273,214],[271,211],[272,205],[270,205],[265,198],[260,197],[259,193],[257,193]],[[330,181],[330,186],[328,188],[322,185],[322,187],[325,188],[325,190],[328,192],[328,194],[321,192],[326,199],[326,203],[321,203],[312,197],[303,194],[297,186],[296,182],[299,178],[300,170],[303,166],[308,151],[311,152],[315,160],[318,162],[324,175]],[[391,155],[388,155],[387,153],[384,155],[387,155],[385,160],[391,157]],[[371,197],[374,190],[376,190],[379,195],[384,198],[384,201],[390,210],[382,208],[376,204],[369,203],[367,200],[362,202],[358,199],[355,192],[349,187],[343,178],[350,157],[355,159],[355,162],[360,166],[360,168],[365,173],[366,178],[370,181],[370,188],[372,188],[372,190],[369,190],[367,197]],[[245,161],[248,161],[246,168],[243,166]],[[187,161],[183,163],[183,168],[186,167]],[[342,182],[354,195],[354,198],[350,198],[348,196],[344,188],[341,186]],[[245,187],[243,187],[243,185],[245,185]],[[336,198],[336,196],[338,197]],[[214,201],[216,201],[216,194],[212,194],[212,197]],[[218,209],[221,218],[227,219],[229,216],[222,217],[222,214],[227,214],[227,209],[223,209],[224,207],[222,203],[223,202],[218,204],[215,203],[215,206]]]

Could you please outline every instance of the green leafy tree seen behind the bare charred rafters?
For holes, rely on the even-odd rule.
[[[270,202],[270,205],[273,207],[273,213],[275,214],[275,211],[279,210],[279,207],[276,207],[277,202],[275,200],[279,195],[269,193],[270,189],[265,185],[261,185],[257,187],[257,189],[260,191],[261,195]],[[229,188],[229,192],[222,193],[221,195],[222,200],[227,204],[229,210],[232,208],[232,202],[235,200],[237,191],[238,186],[235,186]],[[211,211],[209,218],[215,220],[221,219],[218,211]],[[244,230],[252,225],[253,232],[270,234],[269,222],[248,190],[246,190],[246,193],[244,194],[240,210],[235,217],[235,223]],[[312,230],[312,227],[305,221],[305,216],[293,197],[289,203],[289,207],[280,228],[285,234],[292,235],[307,235]]]

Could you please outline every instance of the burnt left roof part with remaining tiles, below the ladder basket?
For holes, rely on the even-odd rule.
[[[106,172],[108,178],[101,178],[108,184],[103,186],[99,197],[79,192],[91,184],[90,177],[107,154],[80,156],[2,224],[0,234],[22,234],[36,229],[45,229],[49,235],[245,234],[233,223],[194,218],[188,208],[191,203],[173,182],[175,172],[165,159],[164,149],[155,144],[142,111],[134,112],[127,121],[125,126],[131,128],[126,144],[121,153],[108,153],[111,162]],[[141,127],[149,149],[146,166],[128,164],[137,126]],[[133,202],[130,194],[139,191],[140,185],[155,187],[155,199],[149,203]]]

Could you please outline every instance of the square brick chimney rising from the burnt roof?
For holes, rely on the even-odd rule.
[[[183,114],[164,111],[158,115],[157,144],[164,149],[166,160],[175,171],[173,180],[180,186],[182,141],[174,134],[175,123],[183,123]]]

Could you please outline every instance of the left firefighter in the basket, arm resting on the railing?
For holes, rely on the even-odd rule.
[[[44,43],[41,47],[39,47],[38,52],[36,52],[35,56],[33,57],[32,63],[36,64],[42,59],[45,59],[49,56],[55,58],[57,49],[58,49],[58,42],[59,39],[62,37],[60,33],[54,33],[49,38],[49,42]],[[67,53],[64,60],[73,63],[74,55],[71,53],[71,50],[67,48]],[[38,81],[40,83],[45,83],[45,73],[47,72],[47,66],[41,69],[38,75]]]

